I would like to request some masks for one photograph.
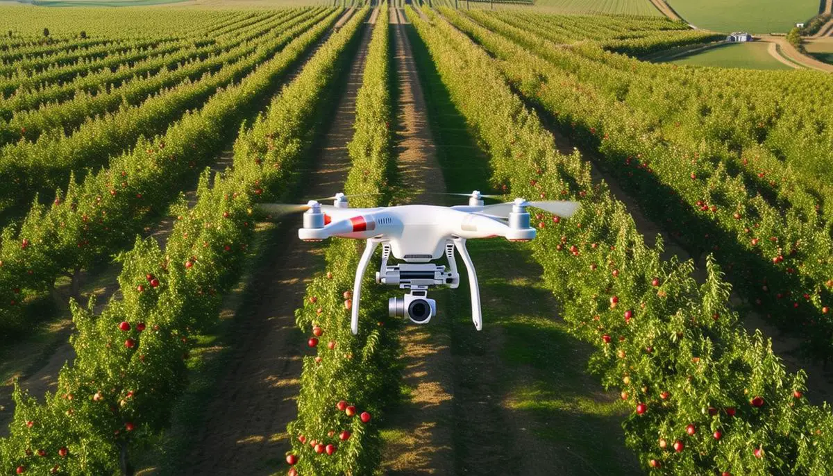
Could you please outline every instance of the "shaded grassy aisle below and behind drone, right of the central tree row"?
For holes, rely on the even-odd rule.
[[[395,31],[399,59],[404,43],[399,35],[412,30],[405,25]],[[402,38],[408,39],[404,34]],[[422,48],[421,44],[411,46]],[[419,51],[419,56],[425,54]],[[416,59],[424,67],[423,60]],[[401,63],[398,66],[401,70]],[[431,131],[439,136],[431,136],[428,130],[414,131],[413,136],[434,146],[418,144],[402,150],[403,173],[413,170],[410,161],[403,159],[415,151],[418,161],[413,176],[420,183],[429,182],[426,187],[434,180],[426,172],[437,166],[444,171],[446,186],[455,187],[453,191],[487,187],[488,157],[469,139],[470,131],[461,117],[447,107],[448,98],[438,90],[437,78],[425,73],[421,79],[428,82],[416,83],[416,87],[432,95],[428,97],[432,109],[426,111],[427,106],[415,98],[413,113],[419,124],[431,112],[431,121],[436,121]],[[400,76],[405,75],[400,72]],[[404,139],[401,145],[407,146],[412,143],[407,120],[410,97],[406,85],[401,87],[403,127],[399,133]],[[422,157],[418,157],[419,149]],[[434,165],[436,161],[441,163]],[[404,181],[406,186],[413,183]],[[436,196],[426,198],[439,202]],[[391,436],[386,437],[383,449],[383,472],[549,476],[610,474],[616,468],[616,474],[635,474],[637,465],[623,444],[620,417],[616,410],[612,418],[609,414],[616,396],[601,391],[595,379],[584,374],[589,346],[582,347],[563,331],[548,332],[563,323],[553,312],[553,296],[542,289],[540,266],[528,250],[505,240],[472,240],[468,247],[481,285],[483,330],[478,332],[471,325],[462,269],[459,289],[436,292],[441,307],[436,320],[427,326],[409,326],[402,336],[407,365],[403,386],[410,401],[391,412],[394,421],[385,430]],[[545,330],[533,330],[538,325]],[[527,333],[536,337],[527,339]],[[527,345],[530,340],[534,344]],[[449,352],[450,357],[446,356]],[[520,359],[519,354],[523,355]],[[569,378],[561,379],[565,372]],[[539,395],[542,401],[534,401],[536,397],[530,394]],[[593,410],[574,407],[577,401]],[[593,414],[600,407],[604,408],[601,413],[607,413]],[[593,440],[604,443],[586,443]],[[594,448],[607,450],[606,463],[597,461]],[[535,457],[527,458],[528,454]]]

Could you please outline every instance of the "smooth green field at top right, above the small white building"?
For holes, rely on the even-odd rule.
[[[718,32],[788,32],[819,12],[818,0],[667,0],[686,22]]]

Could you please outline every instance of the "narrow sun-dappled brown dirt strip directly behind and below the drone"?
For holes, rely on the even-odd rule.
[[[428,126],[425,97],[416,73],[402,9],[390,8],[398,85],[396,146],[405,203],[431,203],[426,192],[446,191]],[[437,303],[438,316],[445,310]],[[401,434],[382,453],[386,474],[453,474],[452,359],[449,336],[431,325],[407,325],[400,335],[402,384],[412,389],[405,408],[391,412],[389,426]]]

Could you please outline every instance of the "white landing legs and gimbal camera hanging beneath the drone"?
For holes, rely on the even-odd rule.
[[[353,284],[353,305],[350,320],[350,330],[358,334],[359,307],[362,299],[362,279],[370,265],[370,260],[377,246],[382,240],[371,238],[367,240],[362,258],[356,269],[356,280]],[[454,250],[460,253],[469,278],[469,290],[471,292],[471,321],[476,330],[483,328],[483,320],[480,305],[480,288],[477,285],[477,275],[474,263],[466,249],[465,238],[453,238],[446,242],[446,258],[448,259],[449,271],[443,265],[432,263],[401,263],[399,265],[387,265],[391,256],[391,245],[382,244],[382,265],[376,275],[377,283],[386,285],[399,285],[401,289],[410,290],[405,298],[392,298],[388,303],[391,315],[408,317],[416,324],[427,324],[433,315],[436,315],[436,303],[427,298],[427,290],[433,285],[448,285],[456,289],[460,285],[460,275],[457,273],[457,264],[454,259]]]

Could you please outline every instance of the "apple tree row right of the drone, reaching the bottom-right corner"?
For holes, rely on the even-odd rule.
[[[531,57],[519,55],[503,71],[517,49],[458,12],[442,15],[498,58],[442,17],[412,15],[452,101],[491,153],[494,185],[513,196],[581,201],[568,220],[538,217],[535,258],[571,332],[596,346],[591,370],[634,409],[623,426],[646,469],[656,460],[658,474],[829,474],[830,409],[809,404],[804,374],[788,374],[760,333],[741,328],[716,262],[710,258],[706,282],[697,285],[691,262],[661,260],[661,241],[645,245],[625,206],[592,183],[587,162],[578,152],[557,153],[507,86],[511,71],[523,87],[540,87],[523,76]],[[641,414],[637,404],[646,405]],[[681,451],[671,449],[677,440]]]

